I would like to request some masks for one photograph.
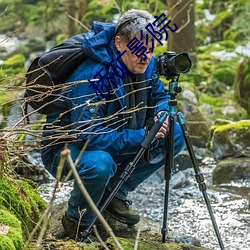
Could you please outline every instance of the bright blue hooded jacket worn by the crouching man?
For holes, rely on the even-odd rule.
[[[114,46],[114,31],[114,24],[94,22],[92,30],[86,33],[83,48],[88,58],[67,80],[68,87],[62,93],[63,102],[57,101],[55,108],[47,116],[48,124],[63,127],[63,131],[57,129],[57,132],[45,132],[45,136],[58,136],[62,133],[61,138],[68,137],[79,147],[83,147],[88,139],[88,150],[104,150],[113,155],[132,154],[140,148],[140,143],[145,137],[145,130],[143,127],[139,129],[124,127],[123,81],[121,77],[114,75],[111,67],[106,66],[112,60],[119,66],[119,62],[116,61],[118,54]],[[112,100],[103,101],[101,95],[97,95],[94,88],[89,87],[90,83],[87,79],[98,78],[96,74],[100,70],[102,75],[107,74],[112,77],[118,86],[114,94],[115,98]],[[169,95],[165,92],[156,73],[154,57],[148,65],[144,78],[149,87],[147,106],[153,107],[149,108],[152,112],[151,114],[147,112],[147,117],[162,110],[168,111]],[[96,81],[95,84],[101,89],[101,83]],[[111,91],[114,89],[112,82],[108,79],[105,80],[105,85]],[[65,106],[69,111],[62,112]]]

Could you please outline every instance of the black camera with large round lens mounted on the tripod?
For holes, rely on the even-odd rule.
[[[192,61],[187,53],[176,54],[168,51],[156,59],[156,69],[159,75],[165,76],[167,80],[185,74],[191,69]]]

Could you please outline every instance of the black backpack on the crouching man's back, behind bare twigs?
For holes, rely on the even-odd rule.
[[[26,114],[28,105],[41,114],[51,110],[66,79],[86,59],[82,47],[84,36],[79,34],[69,38],[31,63],[24,93]]]

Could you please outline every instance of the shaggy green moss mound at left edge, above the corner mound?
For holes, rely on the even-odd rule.
[[[27,238],[46,203],[26,180],[16,180],[3,174],[0,178],[0,206],[21,221],[23,236]]]

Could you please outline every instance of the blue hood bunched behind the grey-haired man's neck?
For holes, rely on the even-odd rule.
[[[109,63],[114,57],[115,24],[94,21],[85,34],[83,50],[87,56],[101,63]]]

